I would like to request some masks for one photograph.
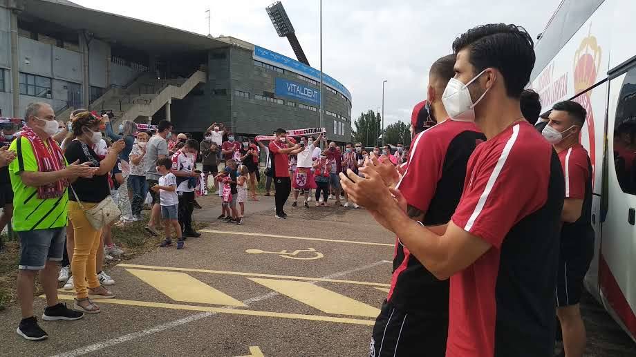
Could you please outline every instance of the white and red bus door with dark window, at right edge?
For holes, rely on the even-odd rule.
[[[610,79],[607,216],[599,284],[608,311],[636,335],[636,62]],[[610,136],[610,134],[612,136]]]

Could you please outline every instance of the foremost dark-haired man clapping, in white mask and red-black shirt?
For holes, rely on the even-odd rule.
[[[342,180],[433,276],[450,278],[447,357],[554,352],[565,184],[559,157],[521,114],[532,46],[523,28],[505,24],[478,26],[453,42],[455,77],[442,102],[451,119],[474,120],[487,141],[468,160],[447,225],[429,228],[409,218],[404,196],[386,187],[376,165],[362,168],[364,178],[349,173]]]

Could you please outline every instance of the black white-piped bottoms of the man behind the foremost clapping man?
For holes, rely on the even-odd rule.
[[[447,337],[448,316],[405,313],[385,300],[373,326],[369,357],[444,357]]]

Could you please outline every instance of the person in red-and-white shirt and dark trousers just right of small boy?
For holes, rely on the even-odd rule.
[[[177,177],[177,195],[179,196],[179,224],[184,237],[200,237],[201,233],[192,227],[194,211],[194,188],[199,173],[194,171],[194,154],[198,150],[195,139],[187,139],[185,146],[172,155],[172,173]]]

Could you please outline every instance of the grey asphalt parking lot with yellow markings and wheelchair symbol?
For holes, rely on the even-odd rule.
[[[203,235],[183,251],[158,248],[111,269],[117,297],[97,302],[102,313],[41,322],[48,340],[27,342],[15,334],[18,307],[4,311],[0,355],[368,354],[389,288],[389,232],[362,209],[288,207],[288,220],[277,220],[273,198],[261,197],[248,202],[245,224],[236,226],[216,220],[218,197],[199,202],[195,218],[209,222]],[[59,296],[72,304],[71,293]],[[636,351],[595,302],[586,306],[595,318],[589,356]],[[43,308],[37,298],[36,313]]]

